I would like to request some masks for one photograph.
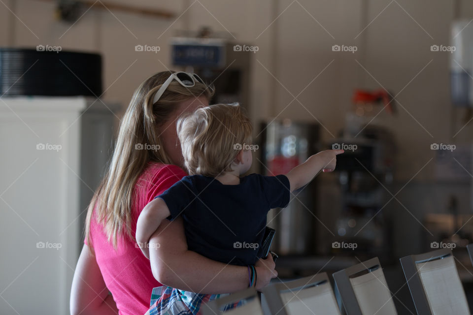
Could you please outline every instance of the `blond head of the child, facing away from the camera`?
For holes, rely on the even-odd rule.
[[[216,177],[232,171],[236,155],[251,143],[252,126],[238,103],[197,109],[177,121],[185,166],[190,175]]]

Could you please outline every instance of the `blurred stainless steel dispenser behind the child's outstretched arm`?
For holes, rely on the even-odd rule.
[[[287,173],[317,153],[319,125],[291,120],[261,124],[260,173],[275,176]],[[268,225],[276,230],[271,249],[280,255],[315,253],[315,195],[317,180],[297,190],[285,209],[273,209]]]

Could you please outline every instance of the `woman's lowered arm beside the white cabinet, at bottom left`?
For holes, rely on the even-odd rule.
[[[95,255],[84,245],[70,290],[71,315],[118,314],[117,305],[103,282]]]

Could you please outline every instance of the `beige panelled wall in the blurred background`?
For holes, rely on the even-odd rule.
[[[452,140],[452,130],[460,129],[464,113],[450,105],[448,53],[430,51],[432,44],[449,42],[452,1],[166,0],[150,4],[141,0],[134,5],[162,8],[179,18],[91,9],[71,28],[55,18],[52,1],[4,3],[16,17],[0,6],[1,46],[49,44],[99,51],[104,58],[104,99],[123,106],[144,78],[165,66],[172,67],[168,43],[177,30],[210,26],[215,31],[232,32],[235,41],[259,46],[251,69],[254,121],[275,116],[318,120],[326,127],[323,139],[330,141],[331,134],[336,135],[344,124],[353,89],[375,89],[381,84],[394,94],[404,88],[398,100],[405,109],[398,106],[397,116],[381,113],[373,122],[395,133],[400,152],[398,180],[409,180],[434,156],[430,143],[471,141],[473,123]],[[461,1],[461,16],[472,15],[471,1]],[[136,44],[159,45],[161,51],[135,52]],[[332,52],[334,44],[356,45],[358,51]],[[298,94],[298,100],[292,101]],[[429,164],[415,180],[433,180],[433,167],[434,163]]]

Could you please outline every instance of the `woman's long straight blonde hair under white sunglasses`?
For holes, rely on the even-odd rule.
[[[163,150],[160,127],[178,103],[201,95],[210,100],[213,95],[213,88],[205,84],[196,82],[194,87],[183,87],[173,80],[161,98],[152,103],[154,94],[173,72],[156,73],[141,83],[120,122],[113,156],[87,211],[85,235],[91,249],[93,213],[115,249],[121,236],[135,239],[131,230],[135,184],[149,161],[172,164]],[[146,150],[150,145],[153,150]]]

